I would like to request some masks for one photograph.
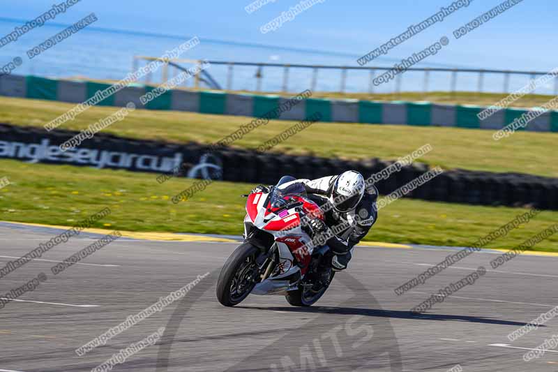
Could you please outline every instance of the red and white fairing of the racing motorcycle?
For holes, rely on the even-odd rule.
[[[258,283],[252,293],[269,295],[289,289],[289,283],[278,281],[301,271],[306,274],[312,256],[312,239],[301,228],[301,218],[312,214],[312,218],[324,219],[317,204],[301,196],[289,195],[288,198],[299,202],[299,206],[290,209],[272,208],[268,193],[252,193],[246,201],[246,217],[244,218],[245,235],[247,225],[269,232],[275,238],[279,251],[278,273]],[[302,204],[300,204],[302,203]]]

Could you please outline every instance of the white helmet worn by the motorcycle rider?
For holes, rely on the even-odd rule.
[[[346,213],[354,209],[364,195],[364,177],[359,172],[349,170],[343,172],[333,184],[329,201],[333,209]]]

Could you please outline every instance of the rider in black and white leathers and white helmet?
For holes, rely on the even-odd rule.
[[[319,218],[307,222],[314,236],[327,237],[325,244],[331,248],[331,267],[335,271],[347,268],[354,246],[368,234],[377,220],[377,188],[365,186],[359,172],[349,170],[342,174],[319,179],[296,179],[306,188],[308,198],[324,211],[325,223]],[[253,192],[269,192],[266,186],[257,186]]]

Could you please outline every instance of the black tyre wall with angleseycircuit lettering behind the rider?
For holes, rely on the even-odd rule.
[[[153,172],[153,187],[160,174],[195,178],[223,179],[248,184],[276,184],[290,174],[315,179],[345,170],[357,170],[368,178],[393,162],[377,158],[344,161],[336,158],[259,153],[245,149],[209,147],[194,142],[171,144],[151,140],[131,140],[97,133],[79,148],[62,153],[59,144],[76,135],[75,131],[20,127],[0,124],[0,158],[36,163],[89,166]],[[218,170],[218,171],[216,171]],[[379,181],[382,195],[428,172],[428,165],[414,163]],[[247,189],[247,191],[249,191]],[[408,198],[438,202],[538,207],[558,210],[558,179],[529,174],[448,170],[407,195]]]

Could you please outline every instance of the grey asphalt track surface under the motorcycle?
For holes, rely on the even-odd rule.
[[[53,232],[0,227],[0,267]],[[558,352],[524,362],[557,332],[558,318],[516,341],[507,335],[558,304],[558,258],[520,256],[498,271],[474,253],[404,295],[393,291],[444,260],[444,249],[357,248],[311,308],[250,296],[235,308],[215,297],[218,271],[237,244],[119,239],[54,276],[51,267],[95,241],[73,237],[0,278],[0,294],[43,272],[47,281],[0,309],[0,371],[91,371],[153,334],[156,345],[112,371],[558,371]],[[84,265],[87,264],[87,265]],[[421,315],[409,309],[478,266],[485,276]],[[75,353],[209,272],[188,295],[83,357]],[[1,295],[0,295],[1,296]],[[506,346],[507,345],[507,346]],[[525,348],[525,349],[523,349]],[[555,350],[558,351],[558,350]]]

